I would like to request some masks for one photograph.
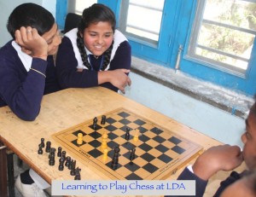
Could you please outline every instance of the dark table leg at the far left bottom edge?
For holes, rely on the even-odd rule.
[[[2,142],[0,142],[0,196],[8,196],[6,147]]]

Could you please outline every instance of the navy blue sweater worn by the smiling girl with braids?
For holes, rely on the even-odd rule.
[[[90,63],[94,67],[94,70],[84,69],[83,72],[77,72],[79,62],[76,59],[73,47],[76,47],[75,42],[72,43],[67,37],[62,38],[56,57],[56,73],[61,88],[88,88],[97,86],[98,70],[102,56],[98,59],[95,59],[93,56],[90,57]],[[131,69],[131,46],[127,41],[119,44],[113,55],[113,60],[110,61],[108,70],[111,71],[119,68]],[[118,90],[110,83],[101,84],[101,86],[113,91]]]

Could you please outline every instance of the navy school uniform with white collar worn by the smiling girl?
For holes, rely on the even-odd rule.
[[[91,55],[90,51],[84,47],[88,55],[91,70],[84,67],[77,46],[77,32],[78,29],[74,28],[65,34],[56,57],[57,78],[61,88],[64,89],[98,86],[98,71],[102,67],[104,54],[96,59],[94,55]],[[131,46],[125,36],[118,30],[115,30],[110,63],[105,71],[119,68],[131,69]],[[81,69],[82,72],[78,72],[78,69]],[[101,84],[101,86],[113,91],[118,91],[118,89],[110,83]]]

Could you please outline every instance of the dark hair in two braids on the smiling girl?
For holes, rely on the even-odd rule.
[[[98,23],[100,21],[109,22],[112,26],[112,30],[114,32],[115,29],[115,16],[113,11],[109,9],[107,6],[95,3],[91,5],[89,8],[84,9],[82,19],[79,22],[79,31],[77,33],[77,45],[79,48],[79,52],[85,67],[89,70],[91,69],[90,62],[88,61],[88,56],[84,49],[84,39],[81,35],[84,35],[84,29],[90,26],[91,23]],[[104,71],[109,64],[111,52],[113,49],[113,43],[111,46],[104,52],[104,61],[102,63],[102,71]]]

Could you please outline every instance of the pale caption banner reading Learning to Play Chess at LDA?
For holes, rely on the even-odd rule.
[[[195,181],[61,181],[51,185],[52,195],[195,195]]]

